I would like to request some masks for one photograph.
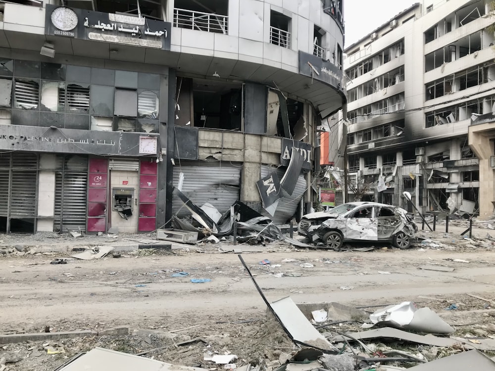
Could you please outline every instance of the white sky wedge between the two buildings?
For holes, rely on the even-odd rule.
[[[402,10],[421,0],[344,0],[346,41],[344,47],[380,27]]]

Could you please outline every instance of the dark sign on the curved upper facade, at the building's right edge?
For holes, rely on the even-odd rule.
[[[300,50],[299,74],[342,89],[342,70],[328,60]]]

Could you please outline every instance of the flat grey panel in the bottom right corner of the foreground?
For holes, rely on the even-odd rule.
[[[407,370],[414,371],[494,371],[495,362],[477,350],[440,358]]]

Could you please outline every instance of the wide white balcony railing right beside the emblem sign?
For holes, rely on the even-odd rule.
[[[229,17],[215,13],[174,8],[174,27],[227,35]]]

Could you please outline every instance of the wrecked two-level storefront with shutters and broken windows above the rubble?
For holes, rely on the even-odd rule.
[[[309,101],[262,84],[181,76],[176,96],[167,192],[176,187],[220,215],[240,200],[276,224],[306,211],[319,120]],[[169,213],[190,216],[176,194]]]

